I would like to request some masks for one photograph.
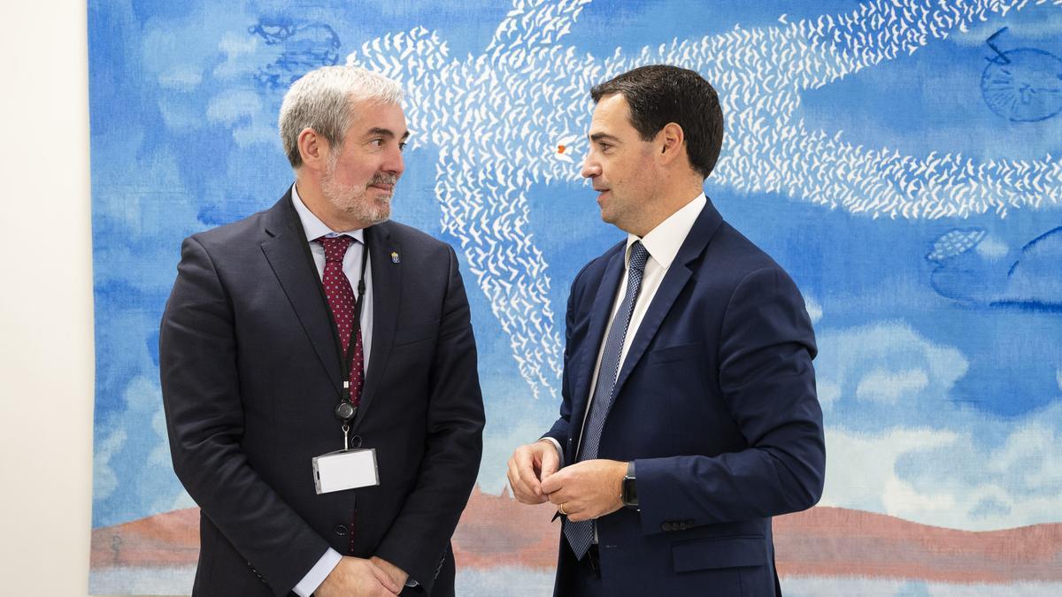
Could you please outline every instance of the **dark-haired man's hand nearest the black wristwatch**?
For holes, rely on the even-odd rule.
[[[589,521],[623,507],[620,493],[627,463],[584,460],[565,466],[542,481],[542,491],[569,521]]]

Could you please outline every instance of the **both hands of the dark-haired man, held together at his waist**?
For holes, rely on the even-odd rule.
[[[558,470],[552,443],[538,441],[516,448],[509,459],[509,484],[523,504],[550,501],[569,521],[588,521],[623,507],[620,500],[627,463],[584,460]]]

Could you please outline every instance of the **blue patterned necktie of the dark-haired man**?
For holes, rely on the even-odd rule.
[[[587,415],[586,425],[583,427],[582,447],[579,450],[577,461],[593,460],[597,458],[598,445],[601,443],[601,429],[604,427],[604,417],[609,414],[609,407],[612,406],[613,392],[616,390],[616,376],[619,374],[619,360],[623,355],[623,340],[627,338],[627,328],[631,325],[631,313],[634,312],[634,303],[638,298],[638,289],[641,288],[641,274],[646,269],[646,260],[649,252],[640,241],[635,241],[631,245],[631,261],[627,267],[627,293],[623,295],[623,304],[616,311],[616,319],[609,329],[609,337],[604,341],[604,353],[601,354],[601,368],[598,370],[597,383],[594,387],[594,399],[590,403],[590,412]],[[583,559],[586,551],[594,542],[594,522],[580,521],[572,523],[565,518],[564,536],[568,538],[571,550],[576,558]]]

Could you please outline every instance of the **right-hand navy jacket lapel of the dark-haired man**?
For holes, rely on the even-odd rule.
[[[667,274],[661,280],[661,286],[656,289],[656,294],[653,296],[652,303],[649,304],[646,314],[641,318],[641,323],[638,325],[638,330],[634,336],[634,341],[631,343],[631,348],[628,351],[627,357],[623,358],[623,366],[620,368],[619,375],[616,377],[613,404],[619,398],[623,383],[631,376],[631,372],[637,366],[638,361],[641,360],[646,348],[649,347],[649,344],[660,330],[664,318],[670,312],[671,306],[674,305],[675,298],[679,297],[679,293],[682,292],[682,289],[686,287],[686,284],[692,276],[689,263],[703,255],[708,240],[716,234],[721,223],[722,217],[719,216],[719,211],[716,210],[715,206],[712,205],[712,201],[708,200],[701,210],[700,216],[697,217],[697,221],[693,222],[693,226],[689,229],[689,234],[686,235],[686,240],[683,241],[682,246],[679,249],[679,254],[675,255],[674,261],[671,262]]]

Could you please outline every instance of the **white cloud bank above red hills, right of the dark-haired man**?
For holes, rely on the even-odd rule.
[[[1058,522],[1062,512],[1062,406],[1034,412],[994,447],[975,430],[826,430],[823,506],[926,525],[996,530]]]

